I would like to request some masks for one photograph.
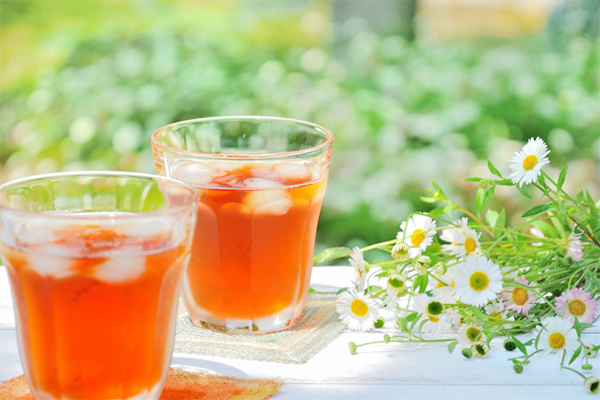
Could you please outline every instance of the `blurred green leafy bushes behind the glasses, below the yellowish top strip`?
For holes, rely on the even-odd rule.
[[[27,9],[11,10],[14,22]],[[218,36],[184,25],[138,23],[127,37],[98,27],[82,39],[48,39],[65,61],[3,86],[5,174],[152,172],[150,134],[173,121],[233,114],[310,120],[336,134],[318,231],[320,242],[338,245],[381,241],[397,231],[399,215],[435,208],[419,199],[429,178],[447,188],[434,200],[466,199],[473,189],[461,181],[499,139],[566,134],[571,146],[549,141],[562,162],[591,157],[600,129],[596,39],[572,37],[554,50],[542,37],[435,44],[357,32],[334,53],[313,43],[257,43],[243,24]],[[493,206],[494,188],[503,184],[496,182],[481,189],[478,211]],[[520,205],[505,200],[510,220]]]

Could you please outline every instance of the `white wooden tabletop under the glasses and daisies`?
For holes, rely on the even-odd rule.
[[[351,273],[348,267],[316,267],[312,283],[346,286]],[[517,354],[505,351],[501,339],[493,342],[492,352],[484,360],[467,360],[459,348],[449,354],[445,344],[377,344],[359,348],[354,356],[348,351],[348,341],[381,338],[381,332],[345,332],[300,365],[186,354],[175,354],[174,363],[241,378],[281,379],[285,385],[275,396],[281,400],[598,398],[585,392],[579,376],[562,370],[556,356],[534,357],[517,375],[507,361]],[[585,332],[583,340],[600,343],[600,329]],[[600,356],[591,364],[590,375],[600,377]],[[0,266],[0,381],[22,373],[6,269]]]

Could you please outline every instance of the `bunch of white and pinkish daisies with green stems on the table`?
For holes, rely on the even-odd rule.
[[[440,205],[428,214],[415,213],[400,225],[393,240],[365,248],[330,248],[315,263],[348,257],[356,270],[354,286],[339,293],[336,307],[350,329],[381,328],[383,314],[393,315],[396,333],[383,342],[448,342],[465,357],[484,358],[490,341],[505,338],[504,347],[518,350],[512,358],[520,373],[535,354],[558,353],[560,365],[579,374],[590,393],[599,391],[593,376],[581,369],[600,345],[584,343],[582,330],[597,320],[600,297],[600,202],[582,189],[571,197],[563,190],[565,166],[557,181],[542,167],[549,163],[546,144],[530,139],[515,154],[508,178],[488,162],[497,179],[470,178],[479,184],[474,212],[446,197],[432,181],[430,197]],[[539,204],[522,215],[515,227],[505,211],[488,209],[497,186],[514,186]],[[453,220],[453,216],[462,218]],[[381,249],[391,260],[367,263],[363,252]],[[520,333],[533,332],[522,342]],[[380,342],[375,342],[380,343]],[[350,351],[371,343],[350,343]]]

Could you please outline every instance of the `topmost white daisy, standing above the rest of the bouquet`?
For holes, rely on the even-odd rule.
[[[547,155],[550,154],[548,146],[542,139],[530,138],[520,152],[515,153],[508,168],[512,171],[510,179],[515,185],[523,187],[536,182],[537,177],[541,175],[541,169],[549,164]]]

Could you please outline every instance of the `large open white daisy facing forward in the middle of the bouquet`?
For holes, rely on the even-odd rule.
[[[461,301],[483,306],[502,291],[500,267],[485,257],[467,257],[454,275],[454,290]]]

